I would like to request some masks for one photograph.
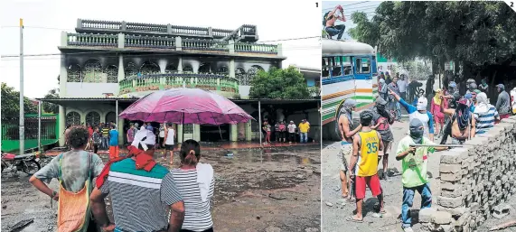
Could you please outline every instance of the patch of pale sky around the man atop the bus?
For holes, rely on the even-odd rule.
[[[346,16],[346,22],[337,21],[335,24],[344,24],[346,25],[346,31],[344,32],[343,39],[351,39],[351,37],[348,34],[348,29],[355,27],[355,24],[352,22],[352,13],[353,12],[363,12],[367,14],[368,18],[371,19],[371,17],[374,15],[374,12],[378,5],[380,5],[382,1],[324,1],[323,2],[323,11],[321,14],[321,19],[319,25],[320,27],[323,26],[323,17],[324,14],[327,12],[333,11],[335,6],[342,5],[342,8],[344,10],[344,15]],[[336,36],[335,36],[336,38]]]

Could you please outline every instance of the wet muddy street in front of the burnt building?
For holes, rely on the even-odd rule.
[[[156,156],[168,168],[178,166],[178,153],[172,166],[163,152]],[[211,163],[215,171],[212,217],[217,231],[319,231],[319,144],[206,151],[201,162]],[[28,180],[21,172],[17,177],[2,174],[2,231],[30,218],[33,223],[21,231],[55,231],[56,203],[51,209],[49,197]],[[58,190],[57,181],[50,186]]]

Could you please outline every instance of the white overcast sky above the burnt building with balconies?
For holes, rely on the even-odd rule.
[[[75,5],[72,4],[76,3]],[[302,3],[303,2],[303,3]],[[59,53],[61,31],[74,32],[77,19],[171,23],[220,29],[237,29],[256,24],[260,41],[320,36],[321,2],[316,1],[65,1],[2,0],[0,14],[0,54],[19,54],[19,18],[23,18],[24,53]],[[38,29],[31,27],[46,27]],[[277,43],[277,42],[268,42]],[[319,39],[283,43],[287,57],[283,65],[321,68]],[[58,87],[60,58],[36,57],[24,60],[25,97],[43,97]],[[0,78],[19,89],[19,60],[0,61]]]

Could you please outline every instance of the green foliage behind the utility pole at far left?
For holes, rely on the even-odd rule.
[[[29,98],[24,97],[23,110],[25,114],[35,114],[38,113],[38,106],[34,105]],[[13,120],[19,116],[20,92],[2,82],[2,122]]]

